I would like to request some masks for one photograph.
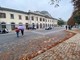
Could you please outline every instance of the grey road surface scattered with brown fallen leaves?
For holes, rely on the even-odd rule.
[[[63,39],[67,35],[63,30],[64,28],[25,31],[25,35],[20,35],[19,38],[15,33],[0,35],[0,60],[17,60],[23,54],[40,53],[41,49],[46,50],[46,47]]]

